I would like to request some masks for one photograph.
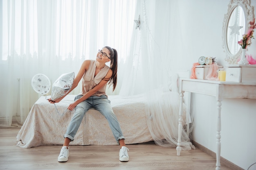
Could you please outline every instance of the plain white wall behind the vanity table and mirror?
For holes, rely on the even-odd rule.
[[[185,28],[183,37],[186,37],[184,50],[188,50],[189,55],[181,56],[181,61],[187,62],[178,66],[190,69],[202,55],[216,57],[218,65],[227,65],[222,48],[222,22],[229,0],[182,0],[179,3],[182,28]],[[255,0],[251,0],[251,4],[256,8]],[[215,98],[192,94],[191,107],[193,140],[216,152]],[[256,100],[224,99],[222,102],[220,155],[243,169],[256,162],[255,113]]]

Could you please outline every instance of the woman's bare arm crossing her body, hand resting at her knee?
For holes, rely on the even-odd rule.
[[[111,76],[112,76],[112,70],[110,69],[110,70],[108,70],[107,75],[101,80],[101,82],[98,85],[96,85],[93,89],[91,89],[89,92],[84,94],[83,97],[81,97],[78,100],[76,100],[75,102],[71,103],[67,109],[73,110],[76,107],[76,105],[78,105],[80,102],[88,99],[90,96],[92,96],[94,93],[96,93],[99,89],[101,89],[104,85],[106,85],[106,83],[108,83]]]

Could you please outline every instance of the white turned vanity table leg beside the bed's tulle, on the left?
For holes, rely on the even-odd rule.
[[[178,143],[177,143],[177,147],[176,147],[176,150],[177,150],[177,156],[180,156],[180,151],[181,151],[181,131],[182,131],[182,113],[183,113],[183,94],[184,92],[181,92],[180,93],[180,111],[179,111],[179,126],[178,126]]]

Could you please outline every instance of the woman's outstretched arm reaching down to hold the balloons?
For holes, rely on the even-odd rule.
[[[86,70],[88,70],[89,68],[89,65],[90,65],[90,60],[85,60],[83,61],[82,65],[81,65],[81,68],[78,72],[78,74],[76,75],[76,77],[74,78],[74,81],[73,81],[73,84],[72,84],[72,87],[71,89],[67,92],[67,94],[69,94],[70,92],[72,92],[72,90],[74,88],[76,88],[76,86],[78,85],[79,81],[81,80],[81,78],[83,77],[83,74],[85,73]],[[67,96],[67,94],[65,94],[64,96],[60,97],[60,98],[57,98],[56,100],[52,100],[51,98],[48,99],[48,101],[50,103],[57,103],[57,102],[60,102],[65,96]]]

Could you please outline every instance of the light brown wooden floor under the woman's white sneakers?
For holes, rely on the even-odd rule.
[[[16,146],[20,128],[0,128],[0,170],[215,170],[216,160],[195,150],[157,146],[154,142],[127,145],[130,161],[119,161],[119,146],[70,146],[67,162],[57,161],[61,146]],[[50,136],[49,136],[50,137]],[[231,170],[221,165],[222,170]]]

